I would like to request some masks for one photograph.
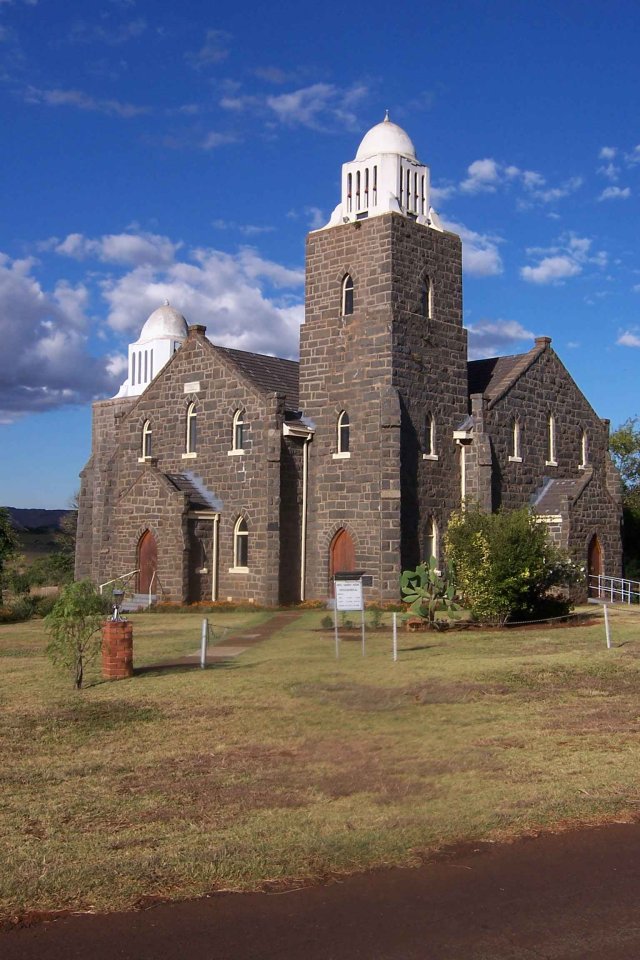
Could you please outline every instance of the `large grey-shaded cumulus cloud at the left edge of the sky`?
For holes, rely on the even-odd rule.
[[[0,420],[112,393],[105,359],[87,348],[88,291],[59,281],[45,290],[35,261],[0,254]]]

